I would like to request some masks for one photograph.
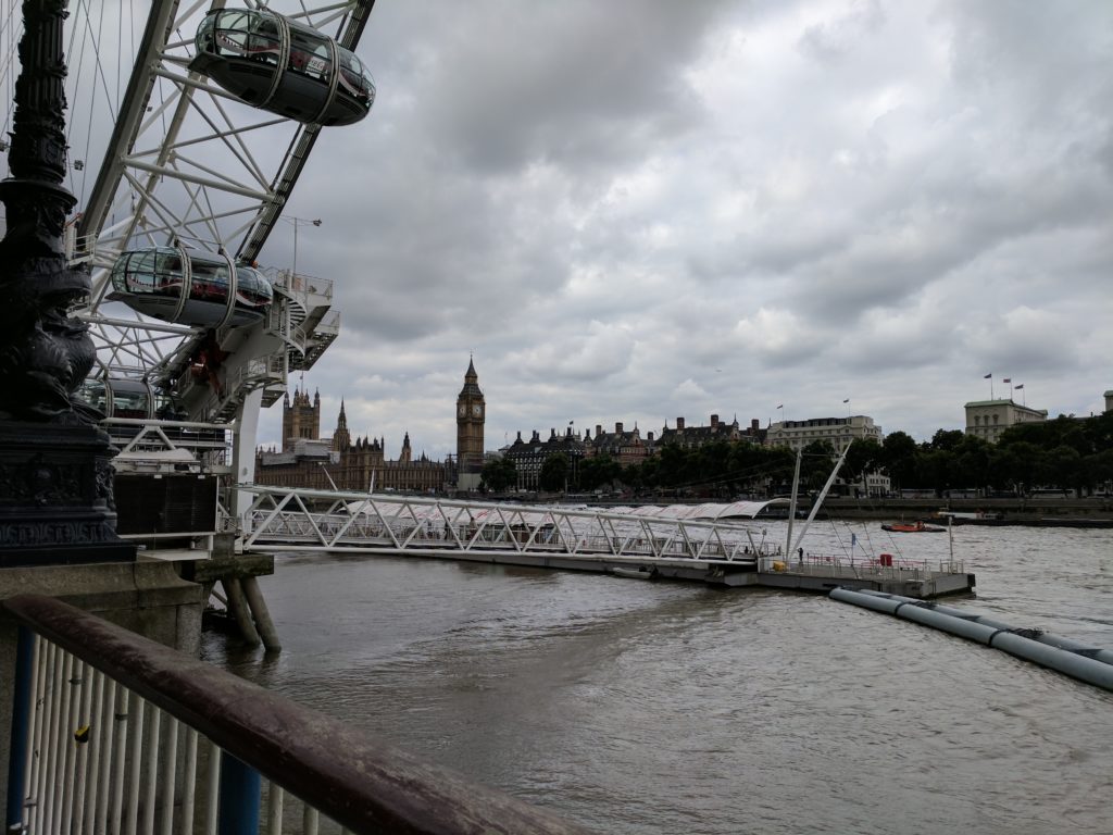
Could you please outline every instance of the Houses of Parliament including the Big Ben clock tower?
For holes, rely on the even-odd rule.
[[[341,402],[332,438],[321,438],[321,394],[295,390],[283,400],[282,451],[258,450],[255,481],[274,487],[366,492],[442,492],[474,490],[483,468],[483,424],[486,402],[475,365],[467,363],[464,385],[456,396],[456,460],[414,458],[410,433],[398,458],[387,460],[385,438],[352,438]]]

